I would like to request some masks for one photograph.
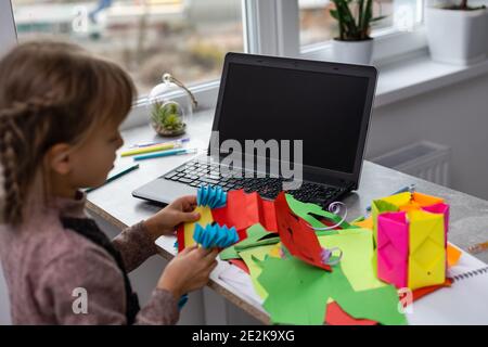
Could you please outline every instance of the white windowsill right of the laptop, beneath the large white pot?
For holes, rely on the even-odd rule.
[[[374,107],[487,74],[488,60],[470,66],[455,66],[433,62],[428,54],[423,54],[378,69]]]

